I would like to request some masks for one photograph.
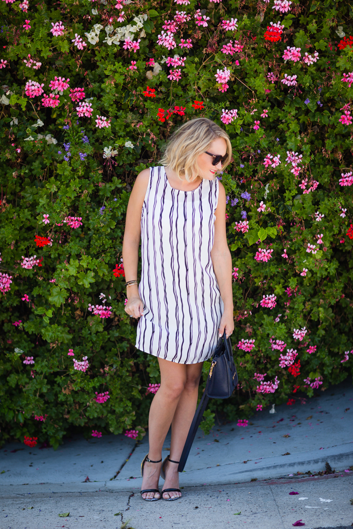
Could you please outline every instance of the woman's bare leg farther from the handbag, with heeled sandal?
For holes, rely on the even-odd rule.
[[[180,395],[187,380],[187,365],[159,358],[160,388],[153,397],[149,413],[148,457],[153,461],[161,458],[162,446],[173,420]],[[181,453],[181,452],[180,452]],[[161,463],[144,463],[142,489],[158,488]],[[146,492],[144,498],[159,498],[157,492]]]

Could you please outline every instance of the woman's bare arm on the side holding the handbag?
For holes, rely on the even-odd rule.
[[[227,234],[225,231],[225,190],[220,182],[218,205],[214,214],[216,220],[214,221],[214,244],[211,250],[211,259],[224,304],[220,332],[223,334],[225,328],[227,335],[230,335],[234,329],[232,257],[228,248]]]

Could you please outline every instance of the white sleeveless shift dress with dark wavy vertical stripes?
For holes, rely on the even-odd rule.
[[[143,315],[135,347],[171,362],[212,357],[224,305],[211,250],[218,179],[193,191],[169,184],[164,167],[151,167],[141,213]]]

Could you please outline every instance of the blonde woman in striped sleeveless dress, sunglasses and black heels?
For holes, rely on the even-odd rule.
[[[234,329],[225,191],[216,178],[231,156],[221,127],[206,118],[188,121],[171,136],[162,166],[140,172],[129,199],[125,312],[140,318],[135,346],[158,357],[161,377],[149,413],[149,453],[141,464],[141,496],[148,501],[182,495],[178,462],[197,405],[202,365],[224,330],[228,337]],[[170,454],[161,464],[170,425]],[[161,494],[159,474],[165,479]]]

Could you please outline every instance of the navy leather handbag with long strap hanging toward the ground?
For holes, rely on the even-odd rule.
[[[198,425],[210,398],[228,398],[238,384],[237,369],[234,364],[232,345],[229,338],[225,338],[225,331],[219,339],[213,353],[211,367],[207,375],[206,387],[198,405],[193,422],[185,441],[183,453],[180,457],[178,471],[183,472],[191,445],[193,444]]]

